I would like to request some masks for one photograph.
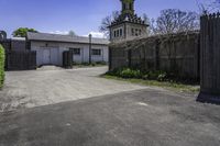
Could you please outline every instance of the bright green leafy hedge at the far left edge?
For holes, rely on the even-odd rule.
[[[0,89],[4,81],[4,48],[0,45]]]

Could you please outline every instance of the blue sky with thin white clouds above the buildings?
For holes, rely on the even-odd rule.
[[[10,35],[26,26],[40,32],[74,30],[78,35],[87,35],[98,32],[101,19],[120,10],[120,0],[0,0],[0,30]],[[156,18],[168,8],[198,11],[196,0],[135,0],[139,15]]]

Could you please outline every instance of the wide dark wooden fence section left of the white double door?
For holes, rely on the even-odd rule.
[[[36,69],[36,52],[7,52],[7,70],[30,70]]]

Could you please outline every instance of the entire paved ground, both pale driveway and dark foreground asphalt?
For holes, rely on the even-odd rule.
[[[106,70],[7,72],[0,146],[220,146],[220,106]]]

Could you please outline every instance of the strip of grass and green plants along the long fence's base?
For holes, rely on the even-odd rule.
[[[175,77],[175,74],[160,70],[142,71],[139,69],[120,68],[109,71],[101,77],[144,86],[162,87],[183,92],[199,92],[200,90],[198,81],[178,78]]]

